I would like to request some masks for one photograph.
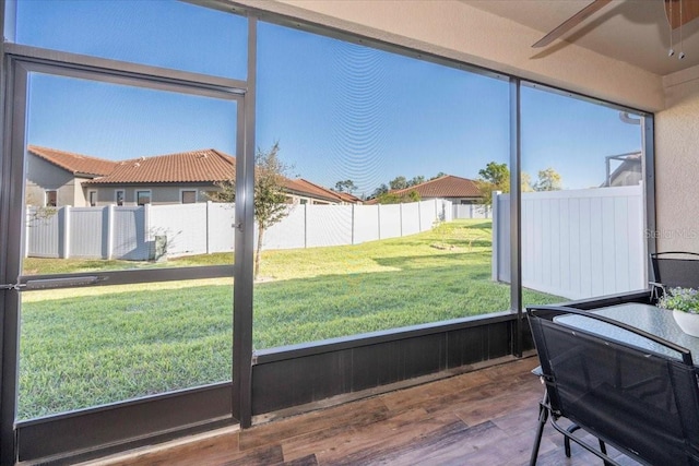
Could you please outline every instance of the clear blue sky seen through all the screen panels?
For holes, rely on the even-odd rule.
[[[245,79],[245,20],[169,1],[21,1],[16,40],[158,67]],[[169,26],[158,28],[156,17]],[[257,144],[280,142],[289,175],[368,194],[396,176],[476,178],[509,154],[503,81],[259,25]],[[235,103],[33,75],[28,143],[123,159],[215,147],[235,154]],[[522,92],[523,169],[566,188],[599,186],[604,157],[638,150],[618,111]]]

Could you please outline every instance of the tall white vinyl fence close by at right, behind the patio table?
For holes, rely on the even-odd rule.
[[[494,195],[493,278],[509,282],[509,194]],[[569,299],[648,285],[642,186],[522,193],[522,286]]]

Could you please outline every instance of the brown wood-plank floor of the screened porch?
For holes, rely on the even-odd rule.
[[[525,465],[543,387],[525,358],[239,430],[90,465]],[[602,464],[546,426],[538,464]],[[624,464],[633,462],[621,458]]]

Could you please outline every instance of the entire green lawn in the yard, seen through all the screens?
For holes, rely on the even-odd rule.
[[[265,251],[265,279],[254,288],[254,347],[508,309],[509,286],[490,280],[490,235],[489,220],[459,220],[358,246]],[[226,261],[232,254],[157,266]],[[133,265],[29,259],[25,271]],[[230,279],[23,294],[19,417],[229,380],[232,295]],[[530,290],[523,297],[561,300]]]

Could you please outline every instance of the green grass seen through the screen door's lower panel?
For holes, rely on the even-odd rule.
[[[232,302],[216,285],[25,303],[20,417],[229,380]]]

